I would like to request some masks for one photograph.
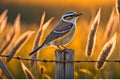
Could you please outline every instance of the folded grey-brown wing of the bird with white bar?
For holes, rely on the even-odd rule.
[[[62,25],[61,25],[62,26]],[[61,27],[59,26],[59,27]],[[65,27],[62,28],[55,28],[46,38],[44,43],[48,43],[54,39],[57,39],[61,36],[64,36],[65,34],[67,34],[69,31],[71,31],[74,27],[74,24],[68,24]]]

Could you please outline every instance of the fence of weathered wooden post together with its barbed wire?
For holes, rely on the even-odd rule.
[[[0,55],[0,57],[8,57],[7,55]],[[71,49],[65,50],[56,50],[55,51],[55,58],[56,60],[42,60],[36,59],[35,61],[39,62],[55,62],[56,63],[56,79],[74,79],[74,63],[81,63],[81,62],[119,62],[120,60],[74,60],[74,51]],[[13,57],[16,60],[26,60],[30,61],[33,60],[31,58],[23,58],[23,57]]]

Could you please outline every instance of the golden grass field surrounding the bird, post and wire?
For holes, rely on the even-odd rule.
[[[34,60],[55,60],[55,50],[58,48],[48,46],[35,55],[29,56],[29,53],[43,43],[68,10],[83,14],[76,22],[74,39],[66,46],[74,50],[74,60],[120,60],[120,0],[1,2],[1,6],[18,5],[14,8],[14,17],[11,16],[13,7],[0,9],[1,79],[55,79],[54,62],[38,61],[36,64]],[[25,5],[33,8],[30,7],[31,10],[26,13],[24,7],[28,7]],[[41,10],[38,11],[37,7]],[[38,13],[33,13],[32,9]],[[32,15],[31,19],[27,15]],[[75,79],[120,79],[119,74],[118,62],[74,63]]]

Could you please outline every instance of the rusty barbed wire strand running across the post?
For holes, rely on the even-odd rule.
[[[9,57],[8,55],[0,55],[0,57]],[[31,58],[23,58],[20,56],[14,56],[12,57],[13,59],[16,60],[24,60],[24,61],[39,61],[39,62],[59,62],[59,63],[72,63],[72,62],[77,62],[77,63],[81,63],[81,62],[118,62],[120,63],[120,60],[73,60],[73,61],[66,61],[66,60],[62,60],[62,61],[58,61],[58,60],[46,60],[46,59],[31,59]]]

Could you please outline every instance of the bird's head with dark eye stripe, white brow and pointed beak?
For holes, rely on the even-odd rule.
[[[73,12],[73,11],[69,11],[69,12],[66,12],[62,16],[62,19],[64,19],[65,21],[74,23],[76,21],[77,17],[80,16],[80,15],[82,15],[82,14],[76,13],[76,12]]]

